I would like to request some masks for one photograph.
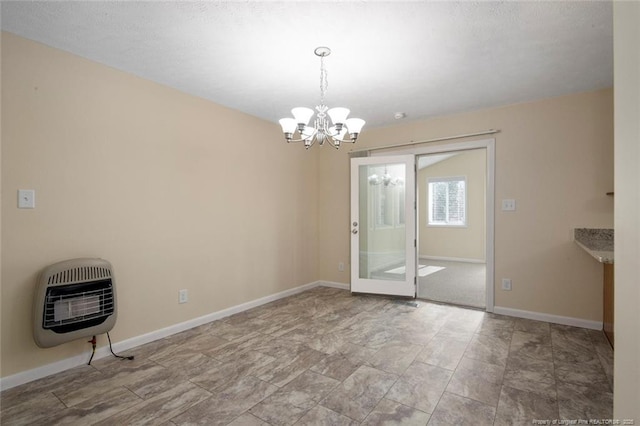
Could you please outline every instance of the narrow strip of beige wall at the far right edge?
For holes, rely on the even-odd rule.
[[[640,422],[640,3],[615,2],[613,417]]]

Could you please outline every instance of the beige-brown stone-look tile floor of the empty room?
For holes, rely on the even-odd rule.
[[[2,425],[612,417],[601,332],[319,287],[2,392]]]

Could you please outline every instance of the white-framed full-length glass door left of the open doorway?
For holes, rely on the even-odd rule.
[[[351,291],[415,297],[415,159],[351,159]]]

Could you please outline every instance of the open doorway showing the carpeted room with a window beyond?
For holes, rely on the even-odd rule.
[[[487,149],[416,156],[416,293],[487,308]]]

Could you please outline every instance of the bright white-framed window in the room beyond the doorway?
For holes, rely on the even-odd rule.
[[[427,179],[427,225],[467,226],[467,179],[464,176]]]

